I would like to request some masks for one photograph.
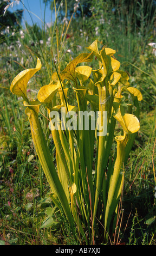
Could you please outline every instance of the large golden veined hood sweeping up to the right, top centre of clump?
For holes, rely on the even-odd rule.
[[[89,54],[81,53],[79,56],[73,59],[72,62],[70,62],[68,66],[66,66],[66,68],[62,71],[61,73],[62,80],[64,79],[72,80],[74,83],[76,83],[76,74],[75,74],[76,66],[79,63],[92,62],[92,59],[93,59],[93,52]]]

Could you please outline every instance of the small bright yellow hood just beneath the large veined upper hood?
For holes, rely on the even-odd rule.
[[[92,68],[90,66],[77,66],[76,68],[76,77],[79,79],[81,85],[88,80],[91,73]]]

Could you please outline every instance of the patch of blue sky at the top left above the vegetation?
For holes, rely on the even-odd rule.
[[[43,3],[43,0],[22,0],[22,2],[24,3],[25,7],[20,2],[19,4],[14,5],[14,7],[12,8],[12,11],[16,11],[17,9],[24,9],[22,25],[24,25],[24,21],[27,21],[30,25],[32,25],[32,18],[34,23],[37,23],[37,25],[42,26],[42,21],[44,21],[45,7],[45,3]],[[9,8],[8,10],[11,11],[11,8]],[[50,5],[47,4],[45,15],[46,23],[50,23],[51,19],[53,19],[54,21],[55,15],[53,13],[53,15],[51,16]]]

